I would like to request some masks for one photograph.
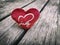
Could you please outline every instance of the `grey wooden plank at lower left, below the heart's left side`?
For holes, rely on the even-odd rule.
[[[9,16],[0,22],[0,45],[17,45],[25,33]]]

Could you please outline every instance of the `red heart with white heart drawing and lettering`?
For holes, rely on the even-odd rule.
[[[35,8],[31,8],[28,11],[17,8],[11,13],[11,17],[19,24],[19,26],[26,30],[33,26],[39,15],[39,11]]]

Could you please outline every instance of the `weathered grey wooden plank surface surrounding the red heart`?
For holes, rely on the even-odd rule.
[[[0,45],[60,45],[60,1],[50,0],[37,22],[26,32],[11,18],[15,8],[37,8],[47,0],[0,0]]]

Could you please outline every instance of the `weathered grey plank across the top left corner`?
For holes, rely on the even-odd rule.
[[[15,2],[3,2],[6,3],[3,8],[0,8],[0,20],[8,17],[12,10],[15,8],[24,8],[25,6],[33,3],[36,0],[29,0],[29,1],[15,1]],[[2,4],[1,4],[2,5]]]

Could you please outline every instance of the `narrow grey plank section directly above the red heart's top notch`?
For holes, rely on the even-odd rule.
[[[25,10],[28,10],[30,8],[36,8],[38,9],[39,11],[41,10],[41,8],[43,7],[43,5],[47,2],[47,0],[42,0],[42,1],[39,1],[39,0],[36,0],[34,3],[28,5],[27,7],[25,7],[24,9]],[[40,3],[40,4],[39,4]],[[37,5],[36,5],[37,4]],[[36,5],[36,6],[35,6]]]

